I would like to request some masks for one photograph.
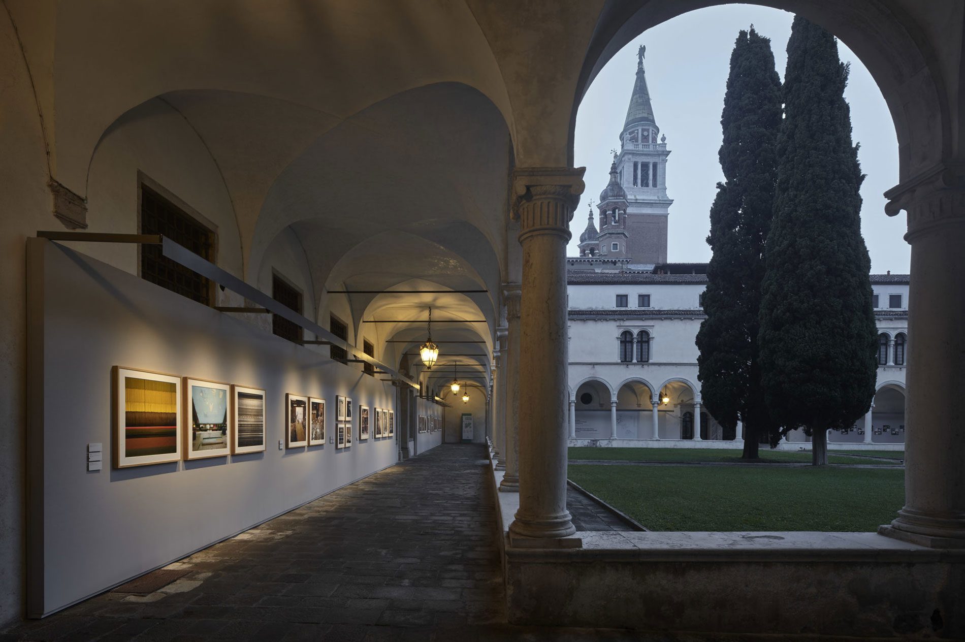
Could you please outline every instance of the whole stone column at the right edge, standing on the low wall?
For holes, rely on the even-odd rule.
[[[965,548],[965,166],[939,165],[889,190],[908,212],[911,287],[905,410],[905,505],[879,532],[916,544]]]

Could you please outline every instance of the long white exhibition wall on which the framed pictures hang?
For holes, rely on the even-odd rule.
[[[398,461],[396,388],[47,240],[28,240],[28,614],[41,616]],[[266,450],[113,469],[115,366],[266,391]],[[285,395],[326,401],[329,443],[279,450]],[[330,437],[335,398],[396,409],[396,437]],[[441,413],[441,408],[434,406]],[[419,407],[428,412],[429,407]],[[183,419],[182,419],[183,421]],[[419,452],[442,433],[416,435]],[[88,472],[87,447],[103,444]]]

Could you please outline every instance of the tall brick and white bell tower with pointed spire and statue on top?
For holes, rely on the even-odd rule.
[[[660,127],[653,117],[644,70],[646,50],[647,47],[641,45],[637,52],[637,76],[620,132],[620,153],[611,168],[610,181],[618,181],[626,193],[625,223],[622,226],[627,236],[625,256],[631,259],[631,265],[652,266],[667,263],[667,222],[674,201],[667,197],[667,157],[670,152],[667,136],[660,135]],[[607,188],[611,189],[611,186]]]

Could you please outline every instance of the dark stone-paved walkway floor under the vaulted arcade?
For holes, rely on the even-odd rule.
[[[103,593],[0,642],[758,639],[507,625],[484,457],[435,448],[169,565],[187,572],[153,593]]]

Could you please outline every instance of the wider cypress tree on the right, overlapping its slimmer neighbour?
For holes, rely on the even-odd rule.
[[[768,411],[785,433],[812,436],[814,464],[827,463],[827,429],[868,411],[877,369],[847,75],[835,38],[796,16],[759,341]]]

